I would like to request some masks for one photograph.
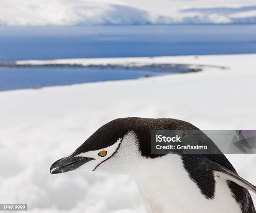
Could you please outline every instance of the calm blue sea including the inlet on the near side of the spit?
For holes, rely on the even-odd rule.
[[[256,25],[0,27],[0,63],[245,53],[256,53]],[[0,90],[135,79],[184,69],[0,67]]]

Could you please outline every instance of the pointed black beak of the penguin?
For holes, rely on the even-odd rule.
[[[59,174],[59,173],[65,173],[72,171],[79,166],[83,165],[84,163],[89,162],[90,160],[95,160],[94,158],[86,158],[86,157],[73,157],[72,155],[69,155],[65,158],[61,158],[59,160],[56,160],[50,168],[50,173],[52,175]]]

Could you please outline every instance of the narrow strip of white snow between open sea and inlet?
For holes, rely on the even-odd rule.
[[[248,55],[188,55],[188,56],[159,56],[159,57],[128,57],[128,58],[70,58],[55,60],[19,60],[16,65],[126,65],[143,66],[151,64],[187,64],[187,65],[205,65],[210,67],[234,68],[234,59],[253,63],[255,54]],[[243,63],[236,66],[244,67]]]

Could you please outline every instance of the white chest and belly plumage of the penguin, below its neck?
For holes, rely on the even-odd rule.
[[[141,170],[135,180],[147,213],[241,213],[226,180],[215,175],[214,198],[206,198],[179,155],[145,159]]]

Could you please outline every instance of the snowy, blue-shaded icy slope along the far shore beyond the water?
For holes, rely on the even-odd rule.
[[[0,26],[256,23],[255,7],[254,0],[1,0]]]

